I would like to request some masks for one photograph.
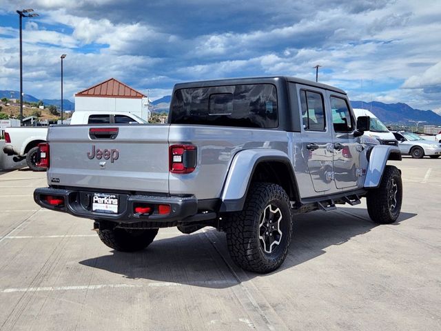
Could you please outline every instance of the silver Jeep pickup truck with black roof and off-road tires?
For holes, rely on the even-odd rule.
[[[235,263],[271,272],[296,213],[367,198],[376,223],[402,204],[396,146],[362,134],[347,94],[292,77],[179,83],[164,125],[53,126],[40,145],[44,208],[94,220],[105,245],[142,250],[158,228],[227,234]]]

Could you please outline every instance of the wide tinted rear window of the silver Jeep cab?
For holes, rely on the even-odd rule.
[[[172,123],[277,128],[276,87],[271,84],[185,88],[174,93]]]

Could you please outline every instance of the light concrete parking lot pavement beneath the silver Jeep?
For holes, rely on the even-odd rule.
[[[364,202],[296,216],[267,275],[237,268],[211,228],[114,252],[92,221],[34,203],[45,173],[0,174],[0,330],[441,330],[441,160],[394,163],[397,223],[371,223]]]

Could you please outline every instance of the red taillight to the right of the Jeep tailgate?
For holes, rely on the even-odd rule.
[[[170,172],[174,174],[189,174],[196,168],[196,146],[170,146]]]

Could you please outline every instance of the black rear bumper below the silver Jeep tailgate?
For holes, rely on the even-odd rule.
[[[115,223],[155,223],[158,227],[175,226],[178,223],[202,221],[203,219],[214,219],[216,213],[203,212],[198,214],[198,201],[196,197],[161,197],[142,194],[117,194],[119,207],[117,214],[92,211],[93,192],[79,190],[63,190],[59,188],[37,188],[34,191],[34,201],[43,208],[67,212],[76,217],[87,219],[99,219]],[[50,205],[45,201],[47,196],[63,197],[63,205]],[[137,214],[134,212],[136,203],[151,205],[170,205],[169,214]]]

